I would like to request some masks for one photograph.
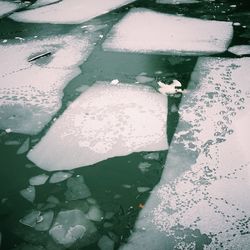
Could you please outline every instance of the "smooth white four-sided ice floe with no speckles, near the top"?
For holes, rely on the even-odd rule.
[[[132,9],[113,27],[104,50],[180,55],[224,52],[233,36],[231,22]]]

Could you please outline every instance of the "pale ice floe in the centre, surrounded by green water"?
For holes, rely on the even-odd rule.
[[[154,89],[98,82],[68,107],[28,158],[53,171],[166,150],[166,120],[167,99]]]

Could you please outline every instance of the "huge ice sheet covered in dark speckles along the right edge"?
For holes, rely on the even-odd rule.
[[[250,247],[250,58],[200,58],[129,249]]]

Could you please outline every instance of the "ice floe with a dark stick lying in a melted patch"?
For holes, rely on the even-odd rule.
[[[96,33],[0,45],[0,129],[40,132],[60,109],[63,88],[81,72]]]

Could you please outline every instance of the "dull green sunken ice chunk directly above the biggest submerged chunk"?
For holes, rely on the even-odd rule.
[[[84,183],[82,176],[68,179],[67,187],[65,197],[68,201],[86,199],[91,196],[90,190]]]

